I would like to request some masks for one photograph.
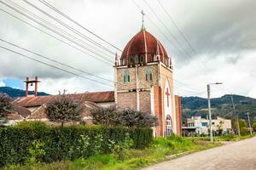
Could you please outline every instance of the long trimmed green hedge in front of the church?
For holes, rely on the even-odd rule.
[[[125,141],[129,133],[133,139],[133,148],[143,149],[152,142],[152,129],[102,126],[51,127],[42,122],[26,122],[15,127],[0,127],[0,167],[9,164],[23,164],[31,153],[35,140],[44,144],[44,156],[40,161],[51,162],[73,160],[75,158],[96,154],[96,137],[102,137],[100,153],[110,152],[109,139],[115,142]],[[81,135],[89,137],[86,153],[81,151]],[[39,146],[40,147],[40,146]],[[39,148],[40,149],[40,148]],[[36,150],[37,152],[38,150]],[[37,153],[36,153],[37,154]]]

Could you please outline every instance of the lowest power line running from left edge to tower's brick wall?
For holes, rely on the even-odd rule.
[[[96,81],[96,80],[91,79],[91,78],[89,78],[89,77],[81,76],[81,75],[79,75],[79,74],[73,73],[72,71],[67,71],[67,70],[61,69],[61,68],[59,68],[59,67],[57,67],[57,66],[55,66],[55,65],[49,65],[48,63],[45,63],[44,61],[40,61],[40,60],[38,60],[38,59],[33,59],[32,57],[29,57],[29,56],[27,56],[27,55],[25,55],[25,54],[20,54],[19,52],[16,52],[16,51],[14,51],[14,50],[12,50],[12,49],[4,48],[3,46],[0,46],[0,48],[3,48],[3,49],[5,49],[5,50],[7,50],[7,51],[10,51],[10,52],[12,52],[12,53],[14,53],[14,54],[19,54],[20,56],[22,56],[22,57],[24,57],[24,58],[26,58],[26,59],[32,59],[32,60],[34,60],[34,61],[36,61],[36,62],[38,62],[38,63],[41,63],[41,64],[43,64],[43,65],[48,65],[48,66],[53,67],[53,68],[55,68],[55,69],[57,69],[57,70],[67,72],[67,73],[72,74],[72,75],[77,76],[77,77],[82,77],[82,78],[87,79],[87,80],[90,80],[90,81],[92,81],[92,82],[98,82],[98,83],[101,83],[101,84],[103,84],[103,85],[106,85],[106,86],[112,88],[112,86],[109,85],[109,84],[107,84],[107,83],[99,82],[99,81]]]

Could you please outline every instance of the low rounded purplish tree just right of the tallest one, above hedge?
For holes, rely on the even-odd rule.
[[[107,108],[97,108],[90,111],[93,117],[93,123],[97,125],[113,126],[120,124],[121,113],[116,109],[116,106]]]

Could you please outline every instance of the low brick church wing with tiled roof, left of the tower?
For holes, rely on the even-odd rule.
[[[71,97],[73,99],[82,100],[84,111],[82,113],[81,122],[84,124],[92,123],[92,117],[90,116],[91,109],[108,107],[115,104],[113,91],[67,95],[72,95]],[[49,124],[55,123],[49,122],[45,114],[45,107],[47,104],[53,103],[57,97],[57,95],[47,95],[15,99],[14,104],[17,105],[17,108],[15,109],[17,111],[15,114],[9,115],[9,124],[15,124],[16,122],[21,121],[41,121]]]

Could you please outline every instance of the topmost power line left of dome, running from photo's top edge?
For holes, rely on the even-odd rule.
[[[73,23],[75,23],[76,25],[80,26],[81,28],[83,28],[85,31],[90,32],[92,35],[94,35],[95,37],[98,37],[99,39],[101,39],[103,42],[108,43],[108,45],[112,46],[113,48],[119,50],[119,52],[122,52],[121,49],[117,48],[116,46],[114,46],[111,42],[108,42],[107,40],[103,39],[102,37],[96,35],[96,33],[94,33],[93,31],[90,31],[89,29],[85,28],[84,26],[80,25],[77,21],[73,20],[72,18],[70,18],[69,16],[67,16],[67,14],[62,13],[60,10],[58,10],[57,8],[53,7],[52,5],[50,5],[49,3],[45,2],[44,0],[38,0],[41,3],[44,3],[46,6],[48,6],[49,8],[55,10],[55,12],[61,14],[62,16],[64,16],[65,18],[67,18],[67,20],[71,20]]]

